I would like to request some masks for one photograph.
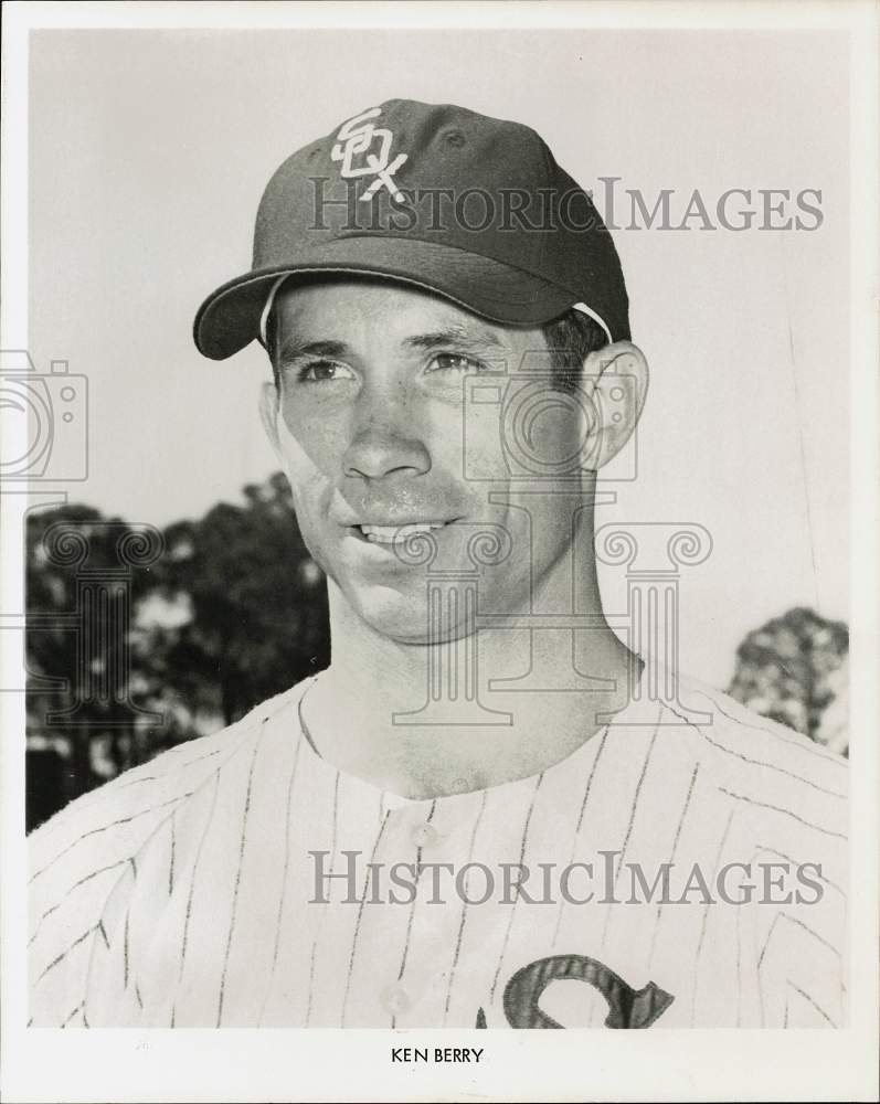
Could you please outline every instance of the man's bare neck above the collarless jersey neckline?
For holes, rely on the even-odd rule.
[[[572,556],[531,611],[503,612],[507,627],[438,644],[383,636],[329,581],[332,662],[304,707],[319,753],[404,796],[497,785],[564,758],[627,703],[635,673],[603,616],[595,563],[575,573]],[[569,613],[572,598],[584,629],[530,627],[530,612]]]

